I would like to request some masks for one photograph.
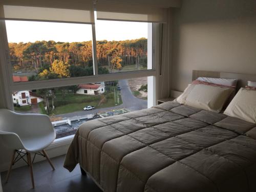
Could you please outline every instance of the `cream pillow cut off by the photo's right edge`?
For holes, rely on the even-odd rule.
[[[241,88],[229,103],[224,114],[256,123],[256,91]]]

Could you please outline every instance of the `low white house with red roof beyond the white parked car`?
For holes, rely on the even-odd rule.
[[[76,92],[77,94],[98,95],[105,92],[104,82],[99,84],[79,84],[79,88],[80,89]]]

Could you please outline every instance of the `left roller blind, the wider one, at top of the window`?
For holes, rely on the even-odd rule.
[[[94,23],[92,0],[0,0],[0,19]]]

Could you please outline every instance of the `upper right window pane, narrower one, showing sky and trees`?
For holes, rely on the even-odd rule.
[[[152,24],[96,20],[98,73],[152,69]]]

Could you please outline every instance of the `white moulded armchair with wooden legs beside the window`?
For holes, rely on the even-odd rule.
[[[29,165],[32,187],[34,188],[32,164],[35,155],[46,157],[54,170],[54,166],[44,149],[55,138],[56,134],[47,115],[19,114],[10,110],[0,109],[0,141],[2,141],[3,145],[13,150],[6,182],[8,182],[12,165],[23,159]],[[33,161],[31,160],[31,154],[34,154]],[[24,159],[25,155],[27,156],[27,161]]]

